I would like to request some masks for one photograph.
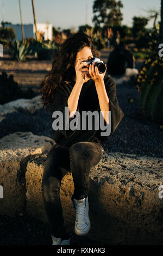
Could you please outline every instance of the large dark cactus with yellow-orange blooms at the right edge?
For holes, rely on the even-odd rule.
[[[158,32],[153,31],[152,33]],[[149,56],[143,64],[136,86],[141,93],[140,109],[146,118],[162,123],[163,60],[158,55],[157,40],[149,43]]]

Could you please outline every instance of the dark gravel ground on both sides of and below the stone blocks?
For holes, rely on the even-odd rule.
[[[154,123],[142,117],[139,109],[140,93],[132,84],[117,86],[117,98],[124,112],[124,118],[118,125],[114,135],[102,143],[107,152],[122,152],[137,156],[162,157],[163,131],[160,123]],[[133,103],[130,103],[133,99]],[[49,115],[43,110],[37,111],[32,117],[22,113],[26,120],[23,131],[32,131],[35,135],[53,138]],[[21,116],[19,122],[21,122]],[[9,117],[11,118],[11,116]],[[8,131],[1,127],[1,138],[10,131],[17,131],[17,116],[12,115],[11,127]],[[40,122],[41,120],[41,122]],[[13,128],[14,127],[14,128]],[[13,130],[14,129],[14,130]],[[93,245],[86,237],[72,234],[73,245]],[[23,215],[16,218],[0,216],[0,245],[51,245],[48,224],[32,217]],[[97,245],[97,243],[96,243]]]

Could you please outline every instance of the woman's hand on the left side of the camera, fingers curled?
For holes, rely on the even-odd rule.
[[[87,78],[90,78],[89,64],[82,63],[81,60],[78,60],[77,65],[75,66],[75,70],[76,70],[76,83],[83,85],[83,83],[87,81]]]

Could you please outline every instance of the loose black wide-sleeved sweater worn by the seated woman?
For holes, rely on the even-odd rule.
[[[75,81],[71,81],[70,83],[61,83],[54,90],[54,100],[52,105],[52,113],[54,111],[61,111],[63,114],[63,119],[65,119],[65,107],[68,107],[67,100],[71,94],[71,91],[74,87]],[[80,141],[95,141],[102,142],[109,139],[109,137],[114,133],[116,127],[124,117],[124,113],[120,106],[118,105],[118,100],[116,96],[116,84],[115,81],[110,76],[104,77],[104,83],[106,88],[106,93],[109,97],[109,111],[111,111],[111,133],[109,136],[101,136],[101,129],[99,126],[99,130],[53,130],[54,141],[59,144],[61,147],[70,149],[71,145]],[[80,118],[82,117],[82,111],[101,111],[99,106],[98,94],[95,87],[95,82],[93,80],[89,80],[83,84],[83,87],[80,91],[77,111],[80,113]],[[69,118],[69,123],[74,117]],[[56,117],[57,118],[57,117]],[[56,118],[52,118],[54,121]],[[81,120],[81,119],[80,119]],[[82,120],[81,120],[82,123]],[[106,122],[104,121],[106,125]],[[65,124],[64,126],[65,127]],[[70,126],[68,126],[70,127]],[[81,125],[82,127],[82,125]],[[94,127],[95,128],[95,127]],[[104,132],[104,131],[103,131]]]

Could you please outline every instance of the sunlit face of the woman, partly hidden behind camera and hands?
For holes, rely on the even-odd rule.
[[[74,66],[76,66],[77,64],[79,65],[81,62],[83,62],[84,60],[93,58],[93,54],[91,51],[91,48],[88,46],[85,46],[82,50],[80,50],[77,53],[77,57],[76,57],[76,62],[74,63]],[[86,80],[89,80],[90,77],[86,75]]]

